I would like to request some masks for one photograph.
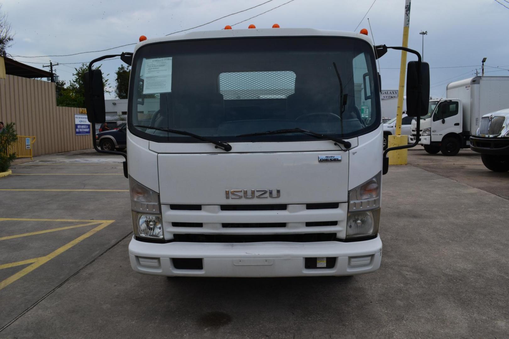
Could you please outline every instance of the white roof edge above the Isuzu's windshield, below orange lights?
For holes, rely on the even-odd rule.
[[[134,47],[134,52],[136,52],[138,48],[144,45],[160,42],[179,41],[179,40],[262,38],[262,37],[347,37],[361,39],[373,45],[373,41],[369,36],[360,33],[347,32],[343,30],[324,30],[314,28],[249,28],[249,29],[201,30],[197,32],[148,39],[136,44],[136,46]]]

